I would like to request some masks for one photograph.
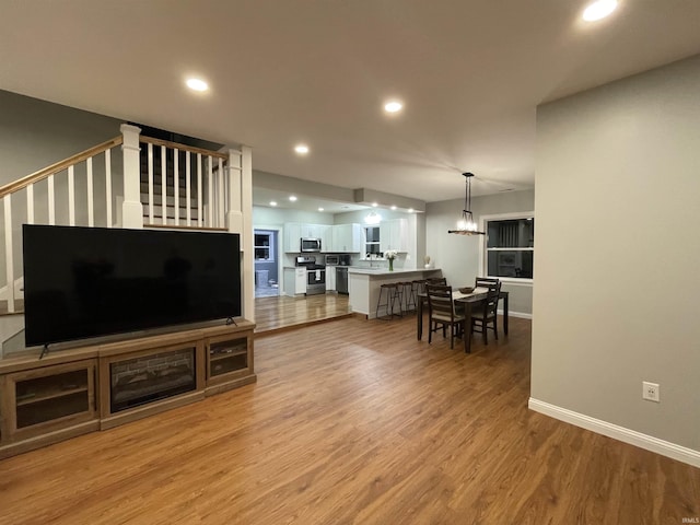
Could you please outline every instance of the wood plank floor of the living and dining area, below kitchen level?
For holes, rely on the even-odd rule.
[[[0,462],[0,523],[700,517],[700,469],[527,409],[530,325],[511,320],[470,355],[413,317],[256,338],[256,384]]]

